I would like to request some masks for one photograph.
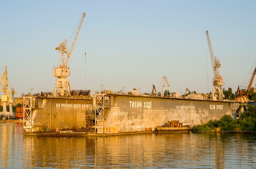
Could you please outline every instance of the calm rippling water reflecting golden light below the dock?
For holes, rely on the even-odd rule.
[[[23,136],[0,123],[1,168],[256,168],[256,134]]]

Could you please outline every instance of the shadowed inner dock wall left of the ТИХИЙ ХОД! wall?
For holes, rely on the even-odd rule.
[[[34,132],[40,126],[49,131],[59,129],[80,129],[87,126],[88,113],[93,113],[92,99],[43,98],[38,99],[40,106],[33,110]]]

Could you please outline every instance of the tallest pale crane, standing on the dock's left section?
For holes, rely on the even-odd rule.
[[[74,48],[76,45],[77,38],[79,36],[80,29],[83,24],[83,20],[85,18],[85,13],[80,20],[79,26],[76,30],[76,34],[74,36],[73,42],[70,46],[70,49],[67,47],[67,40],[63,40],[55,49],[60,53],[60,60],[58,67],[53,68],[53,76],[57,77],[56,85],[54,88],[53,95],[54,97],[58,96],[70,96],[70,83],[67,80],[67,77],[70,76],[70,68],[68,67],[69,62],[72,58],[72,54],[74,52]]]

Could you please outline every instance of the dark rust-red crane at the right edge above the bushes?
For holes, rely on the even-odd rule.
[[[234,119],[236,119],[236,117],[240,116],[240,113],[242,112],[242,110],[243,111],[247,110],[247,106],[248,106],[247,102],[249,102],[248,96],[249,96],[250,90],[252,88],[252,83],[253,83],[255,74],[256,74],[256,67],[254,69],[254,73],[252,73],[252,78],[251,78],[251,81],[249,83],[249,86],[247,87],[247,92],[246,93],[243,90],[241,90],[239,88],[239,86],[238,86],[237,91],[235,92],[236,95],[238,95],[238,96],[235,97],[235,101],[239,102],[240,105],[239,105],[236,113],[234,114]]]

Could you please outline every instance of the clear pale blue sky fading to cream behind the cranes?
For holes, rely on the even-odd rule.
[[[0,75],[21,93],[53,91],[55,47],[85,22],[69,67],[71,89],[213,90],[205,31],[227,90],[247,86],[256,60],[255,0],[10,0],[0,5]],[[85,55],[87,53],[86,62]],[[207,76],[208,73],[208,76]],[[248,78],[247,78],[248,76]],[[254,84],[255,85],[255,80]],[[2,89],[2,87],[1,87]],[[162,91],[162,88],[160,89]],[[2,94],[1,94],[2,95]]]

